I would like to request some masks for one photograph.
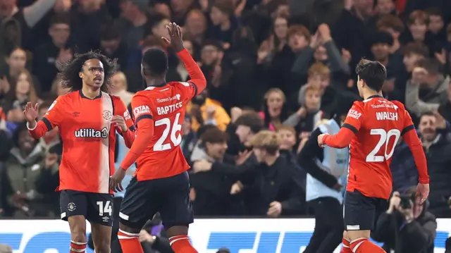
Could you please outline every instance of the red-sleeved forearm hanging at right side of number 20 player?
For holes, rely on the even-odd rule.
[[[428,163],[426,156],[424,155],[423,145],[421,144],[418,135],[416,135],[416,132],[412,129],[402,135],[402,138],[407,142],[409,149],[414,156],[416,169],[418,170],[419,175],[419,183],[429,183]]]

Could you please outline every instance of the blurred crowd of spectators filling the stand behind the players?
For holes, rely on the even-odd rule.
[[[354,68],[369,58],[386,66],[383,95],[405,104],[424,144],[431,196],[414,219],[431,230],[435,217],[451,218],[451,1],[4,0],[0,21],[0,216],[59,216],[58,129],[33,140],[26,102],[39,103],[43,116],[70,92],[58,68],[91,49],[118,59],[109,91],[125,104],[144,87],[147,49],[167,52],[168,82],[189,79],[161,41],[173,21],[207,80],[187,106],[180,144],[192,165],[197,216],[314,214],[306,201],[311,172],[298,154],[343,101],[360,99]],[[127,150],[116,146],[120,163]],[[416,185],[404,142],[391,169],[393,191],[404,195]]]

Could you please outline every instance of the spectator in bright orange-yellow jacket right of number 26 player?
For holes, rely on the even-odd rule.
[[[216,125],[226,130],[230,116],[218,101],[208,97],[208,91],[203,90],[187,105],[187,112],[192,116],[192,129],[197,131],[201,125]]]

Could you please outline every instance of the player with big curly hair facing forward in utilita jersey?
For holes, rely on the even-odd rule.
[[[117,64],[96,51],[76,55],[58,78],[70,88],[58,97],[41,121],[38,104],[25,106],[30,135],[35,139],[58,127],[63,142],[59,176],[61,219],[70,227],[70,253],[85,252],[86,220],[91,223],[97,253],[109,253],[116,130],[131,147],[135,139],[130,113],[119,97],[108,94]]]

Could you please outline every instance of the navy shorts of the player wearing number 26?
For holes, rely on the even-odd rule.
[[[154,180],[138,181],[136,177],[132,178],[119,213],[121,223],[130,228],[142,228],[157,212],[165,228],[193,223],[187,172]]]

